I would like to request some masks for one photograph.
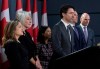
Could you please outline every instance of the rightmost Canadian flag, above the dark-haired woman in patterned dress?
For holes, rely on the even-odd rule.
[[[43,0],[41,26],[48,26],[46,0]]]

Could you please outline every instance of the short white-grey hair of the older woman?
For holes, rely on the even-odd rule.
[[[22,23],[22,25],[25,24],[25,19],[27,16],[31,17],[31,13],[26,11],[19,11],[16,13],[16,19],[18,19]]]

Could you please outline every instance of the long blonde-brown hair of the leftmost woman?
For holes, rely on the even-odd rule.
[[[7,40],[12,39],[15,40],[14,38],[14,31],[16,29],[16,26],[18,25],[19,20],[13,20],[7,23],[7,25],[4,28],[4,36],[2,38],[2,45],[6,43]]]

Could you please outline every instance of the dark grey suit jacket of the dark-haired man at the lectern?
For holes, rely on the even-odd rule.
[[[73,52],[68,32],[62,21],[58,22],[52,30],[53,49],[56,58],[68,55]]]

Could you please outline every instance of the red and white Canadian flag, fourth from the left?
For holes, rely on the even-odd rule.
[[[34,42],[37,44],[38,36],[38,12],[37,12],[37,0],[34,0],[34,9],[33,9],[33,38]]]

